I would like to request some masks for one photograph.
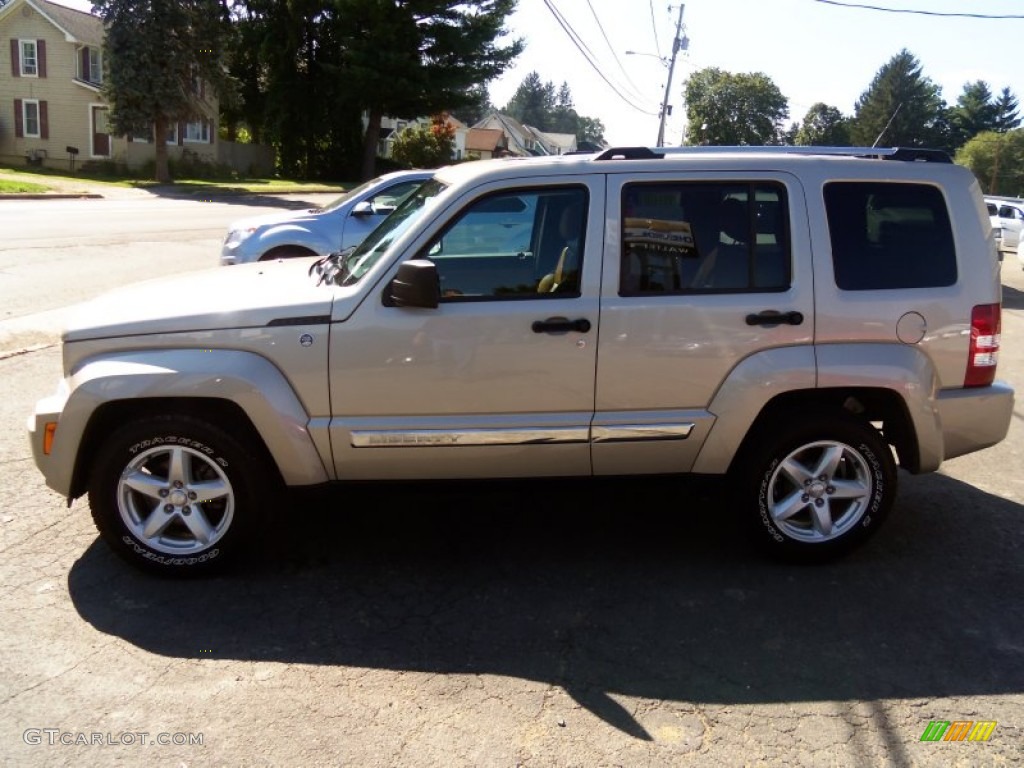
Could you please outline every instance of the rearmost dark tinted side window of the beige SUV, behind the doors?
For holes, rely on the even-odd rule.
[[[945,199],[928,184],[825,185],[836,285],[844,291],[940,288],[956,283]]]

